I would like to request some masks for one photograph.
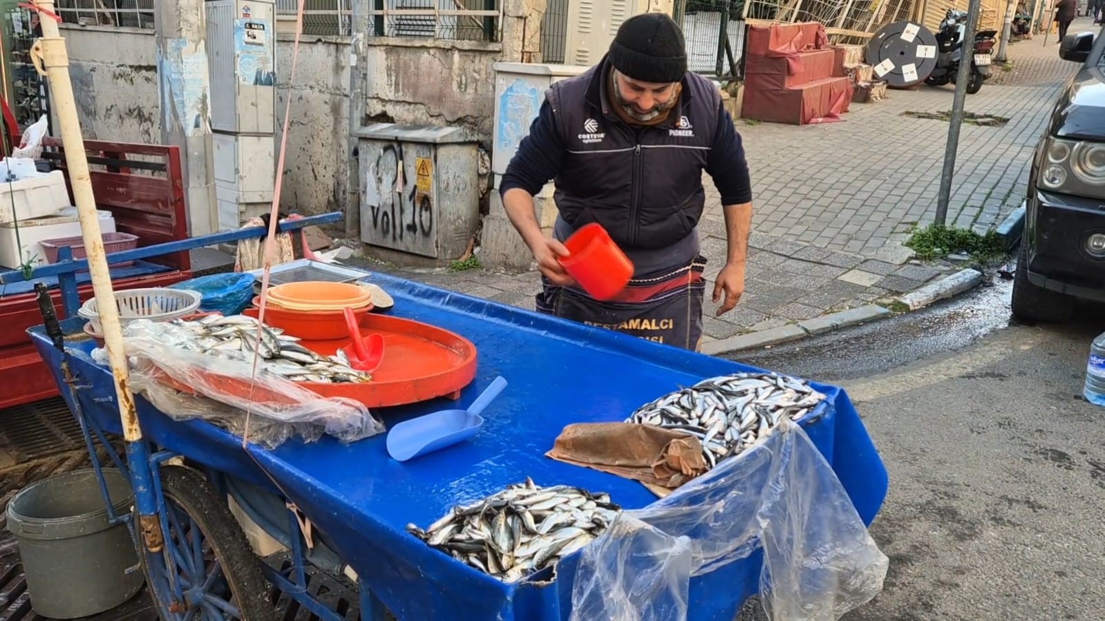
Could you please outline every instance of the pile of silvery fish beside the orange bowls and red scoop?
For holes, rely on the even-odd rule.
[[[209,356],[252,362],[254,352],[261,360],[259,370],[275,373],[291,381],[323,383],[366,382],[372,376],[350,367],[341,350],[335,356],[320,356],[299,345],[297,337],[280,328],[262,326],[248,315],[208,315],[201,319],[173,319],[170,324],[183,328],[169,336],[171,345]],[[173,338],[180,337],[180,338]]]

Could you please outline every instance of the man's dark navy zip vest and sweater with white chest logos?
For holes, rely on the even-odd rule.
[[[572,228],[599,222],[625,249],[667,248],[702,218],[702,172],[722,204],[751,201],[748,165],[733,118],[708,80],[687,73],[664,124],[634,127],[610,109],[603,57],[556,82],[511,159],[499,187],[536,194],[556,183],[560,217]]]

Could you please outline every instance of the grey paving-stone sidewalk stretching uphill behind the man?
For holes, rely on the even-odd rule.
[[[1092,20],[1091,20],[1092,21]],[[1076,21],[1074,29],[1085,29]],[[960,134],[949,223],[992,229],[1024,196],[1028,166],[1057,90],[1073,73],[1057,45],[1041,39],[1011,44],[1011,70],[968,97],[967,109],[1010,118],[1003,127],[965,125]],[[713,183],[701,227],[711,286],[704,345],[765,330],[794,330],[800,322],[901,295],[957,270],[911,262],[902,242],[932,221],[947,123],[903,113],[951,107],[950,86],[892,91],[875,104],[854,104],[841,123],[819,126],[737,122],[751,167],[755,198],[748,272],[739,305],[716,317],[709,299],[725,257],[725,223]],[[536,271],[450,272],[372,263],[370,269],[534,308]],[[790,326],[787,328],[787,326]],[[723,345],[718,343],[716,345]]]

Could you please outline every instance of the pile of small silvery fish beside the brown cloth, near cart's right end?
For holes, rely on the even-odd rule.
[[[783,417],[798,421],[825,398],[802,380],[776,373],[706,379],[638,408],[625,422],[690,433],[709,467],[766,436]]]

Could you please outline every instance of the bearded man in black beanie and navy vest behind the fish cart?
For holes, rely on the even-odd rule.
[[[625,20],[607,54],[552,84],[503,176],[507,217],[534,253],[537,309],[697,349],[705,293],[698,221],[703,170],[722,196],[728,252],[714,286],[717,315],[745,290],[751,189],[740,136],[709,81],[687,71],[680,28],[665,14]],[[534,194],[556,182],[559,212],[546,239]],[[597,301],[558,259],[583,224],[601,224],[634,274],[614,299]]]

